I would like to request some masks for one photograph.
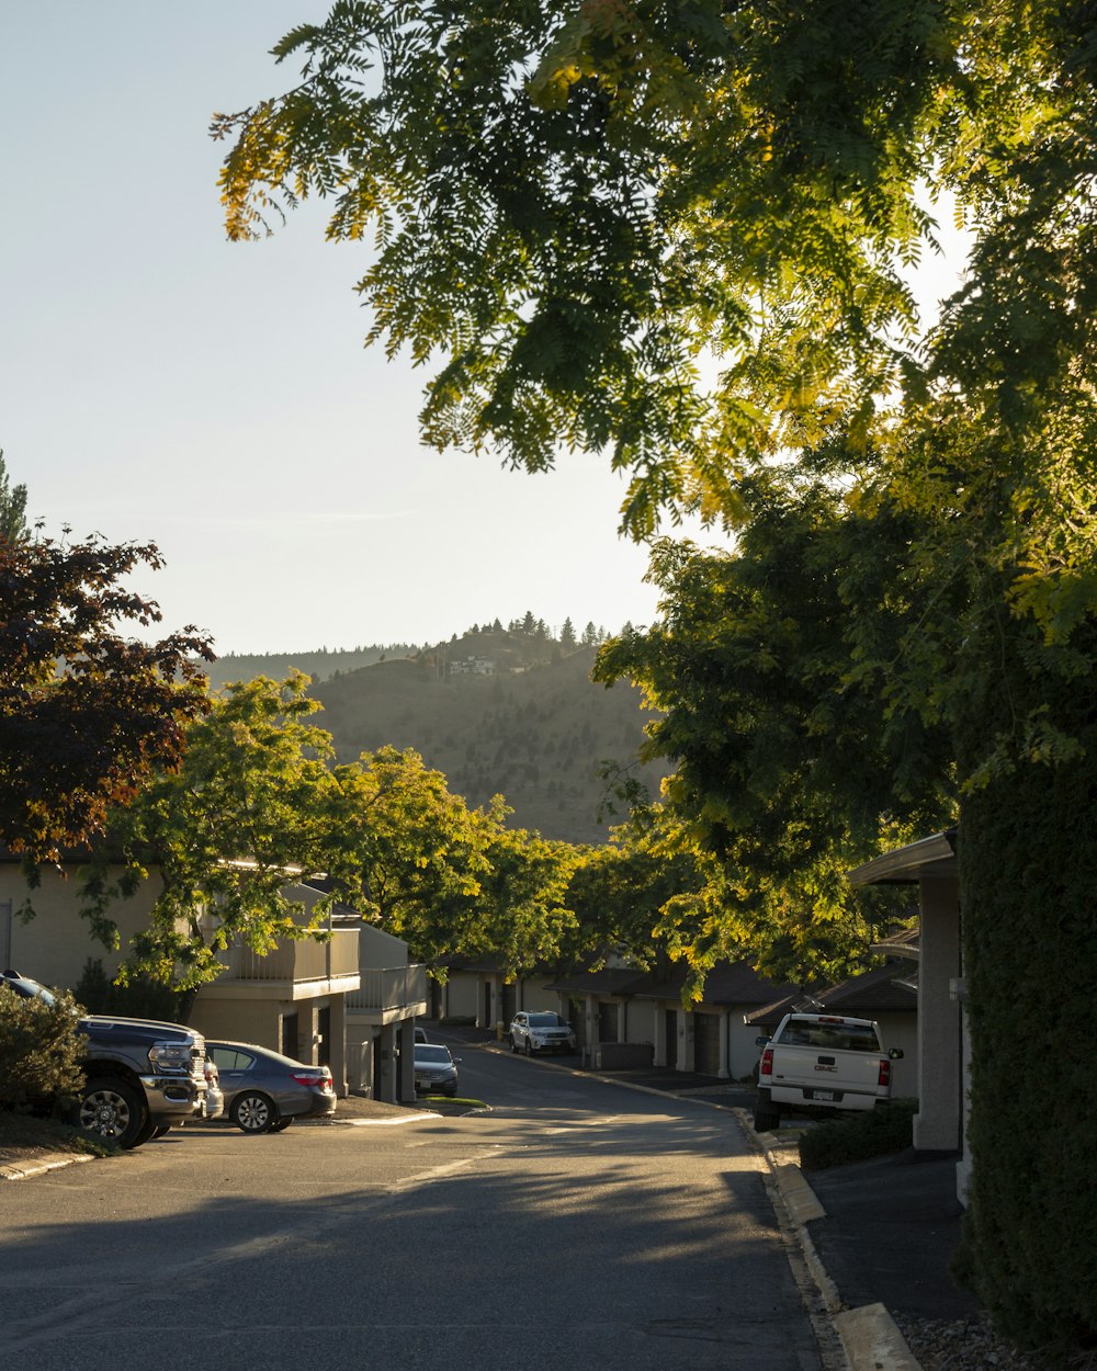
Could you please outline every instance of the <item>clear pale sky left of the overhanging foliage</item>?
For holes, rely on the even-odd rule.
[[[418,443],[425,373],[363,350],[367,250],[324,206],[225,240],[214,110],[324,0],[0,0],[0,448],[48,532],[155,540],[136,584],[217,650],[428,642],[531,609],[650,622],[624,487]]]

